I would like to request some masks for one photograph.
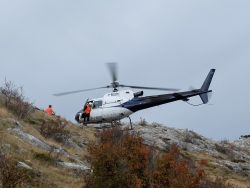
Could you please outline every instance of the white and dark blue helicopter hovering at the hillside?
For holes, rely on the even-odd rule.
[[[135,85],[124,85],[120,84],[117,79],[117,63],[107,63],[111,73],[112,82],[109,85],[103,87],[96,87],[91,89],[75,90],[62,93],[56,93],[54,96],[63,96],[74,93],[86,92],[91,90],[112,88],[113,91],[105,94],[101,98],[87,99],[84,106],[91,104],[91,113],[89,118],[83,117],[83,109],[78,111],[75,115],[75,120],[78,123],[87,124],[99,124],[99,123],[112,123],[119,121],[123,118],[129,118],[130,115],[147,108],[154,106],[182,100],[189,101],[190,97],[200,96],[202,104],[208,103],[208,94],[212,92],[209,90],[210,83],[212,81],[215,69],[211,69],[203,82],[201,88],[192,89],[185,92],[177,92],[179,89],[175,88],[159,88],[159,87],[144,87]],[[119,90],[119,88],[132,88],[141,89],[140,91],[134,92],[130,89]],[[161,90],[161,91],[172,91],[173,93],[143,96],[143,89],[149,90]],[[132,126],[132,124],[131,124]]]

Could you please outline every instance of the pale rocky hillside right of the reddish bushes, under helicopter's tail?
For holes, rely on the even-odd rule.
[[[134,126],[145,144],[160,150],[177,144],[182,153],[196,161],[206,160],[206,173],[211,178],[223,177],[237,187],[250,187],[250,137],[236,141],[213,141],[188,129],[176,129],[159,124]]]

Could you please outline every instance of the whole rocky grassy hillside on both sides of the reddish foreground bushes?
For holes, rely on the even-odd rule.
[[[59,130],[53,129],[57,123]],[[97,140],[95,135],[102,127],[107,128],[79,127],[39,110],[20,120],[1,104],[0,155],[10,156],[18,168],[31,172],[23,187],[82,187],[84,176],[91,172],[87,146]],[[139,132],[147,145],[164,150],[174,143],[186,157],[207,161],[205,170],[211,179],[223,177],[237,187],[250,187],[250,138],[216,142],[187,129],[146,122],[133,127],[131,131]]]

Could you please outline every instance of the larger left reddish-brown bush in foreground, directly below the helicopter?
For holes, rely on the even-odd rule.
[[[86,187],[142,187],[150,150],[142,138],[118,127],[100,133],[100,144],[89,147],[93,175]]]

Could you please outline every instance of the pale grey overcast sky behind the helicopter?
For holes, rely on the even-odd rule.
[[[183,90],[216,68],[211,105],[174,102],[131,118],[237,139],[250,134],[249,10],[248,0],[0,0],[0,85],[6,77],[73,121],[86,98],[110,90],[52,94],[109,84],[106,62],[119,63],[123,84]]]

